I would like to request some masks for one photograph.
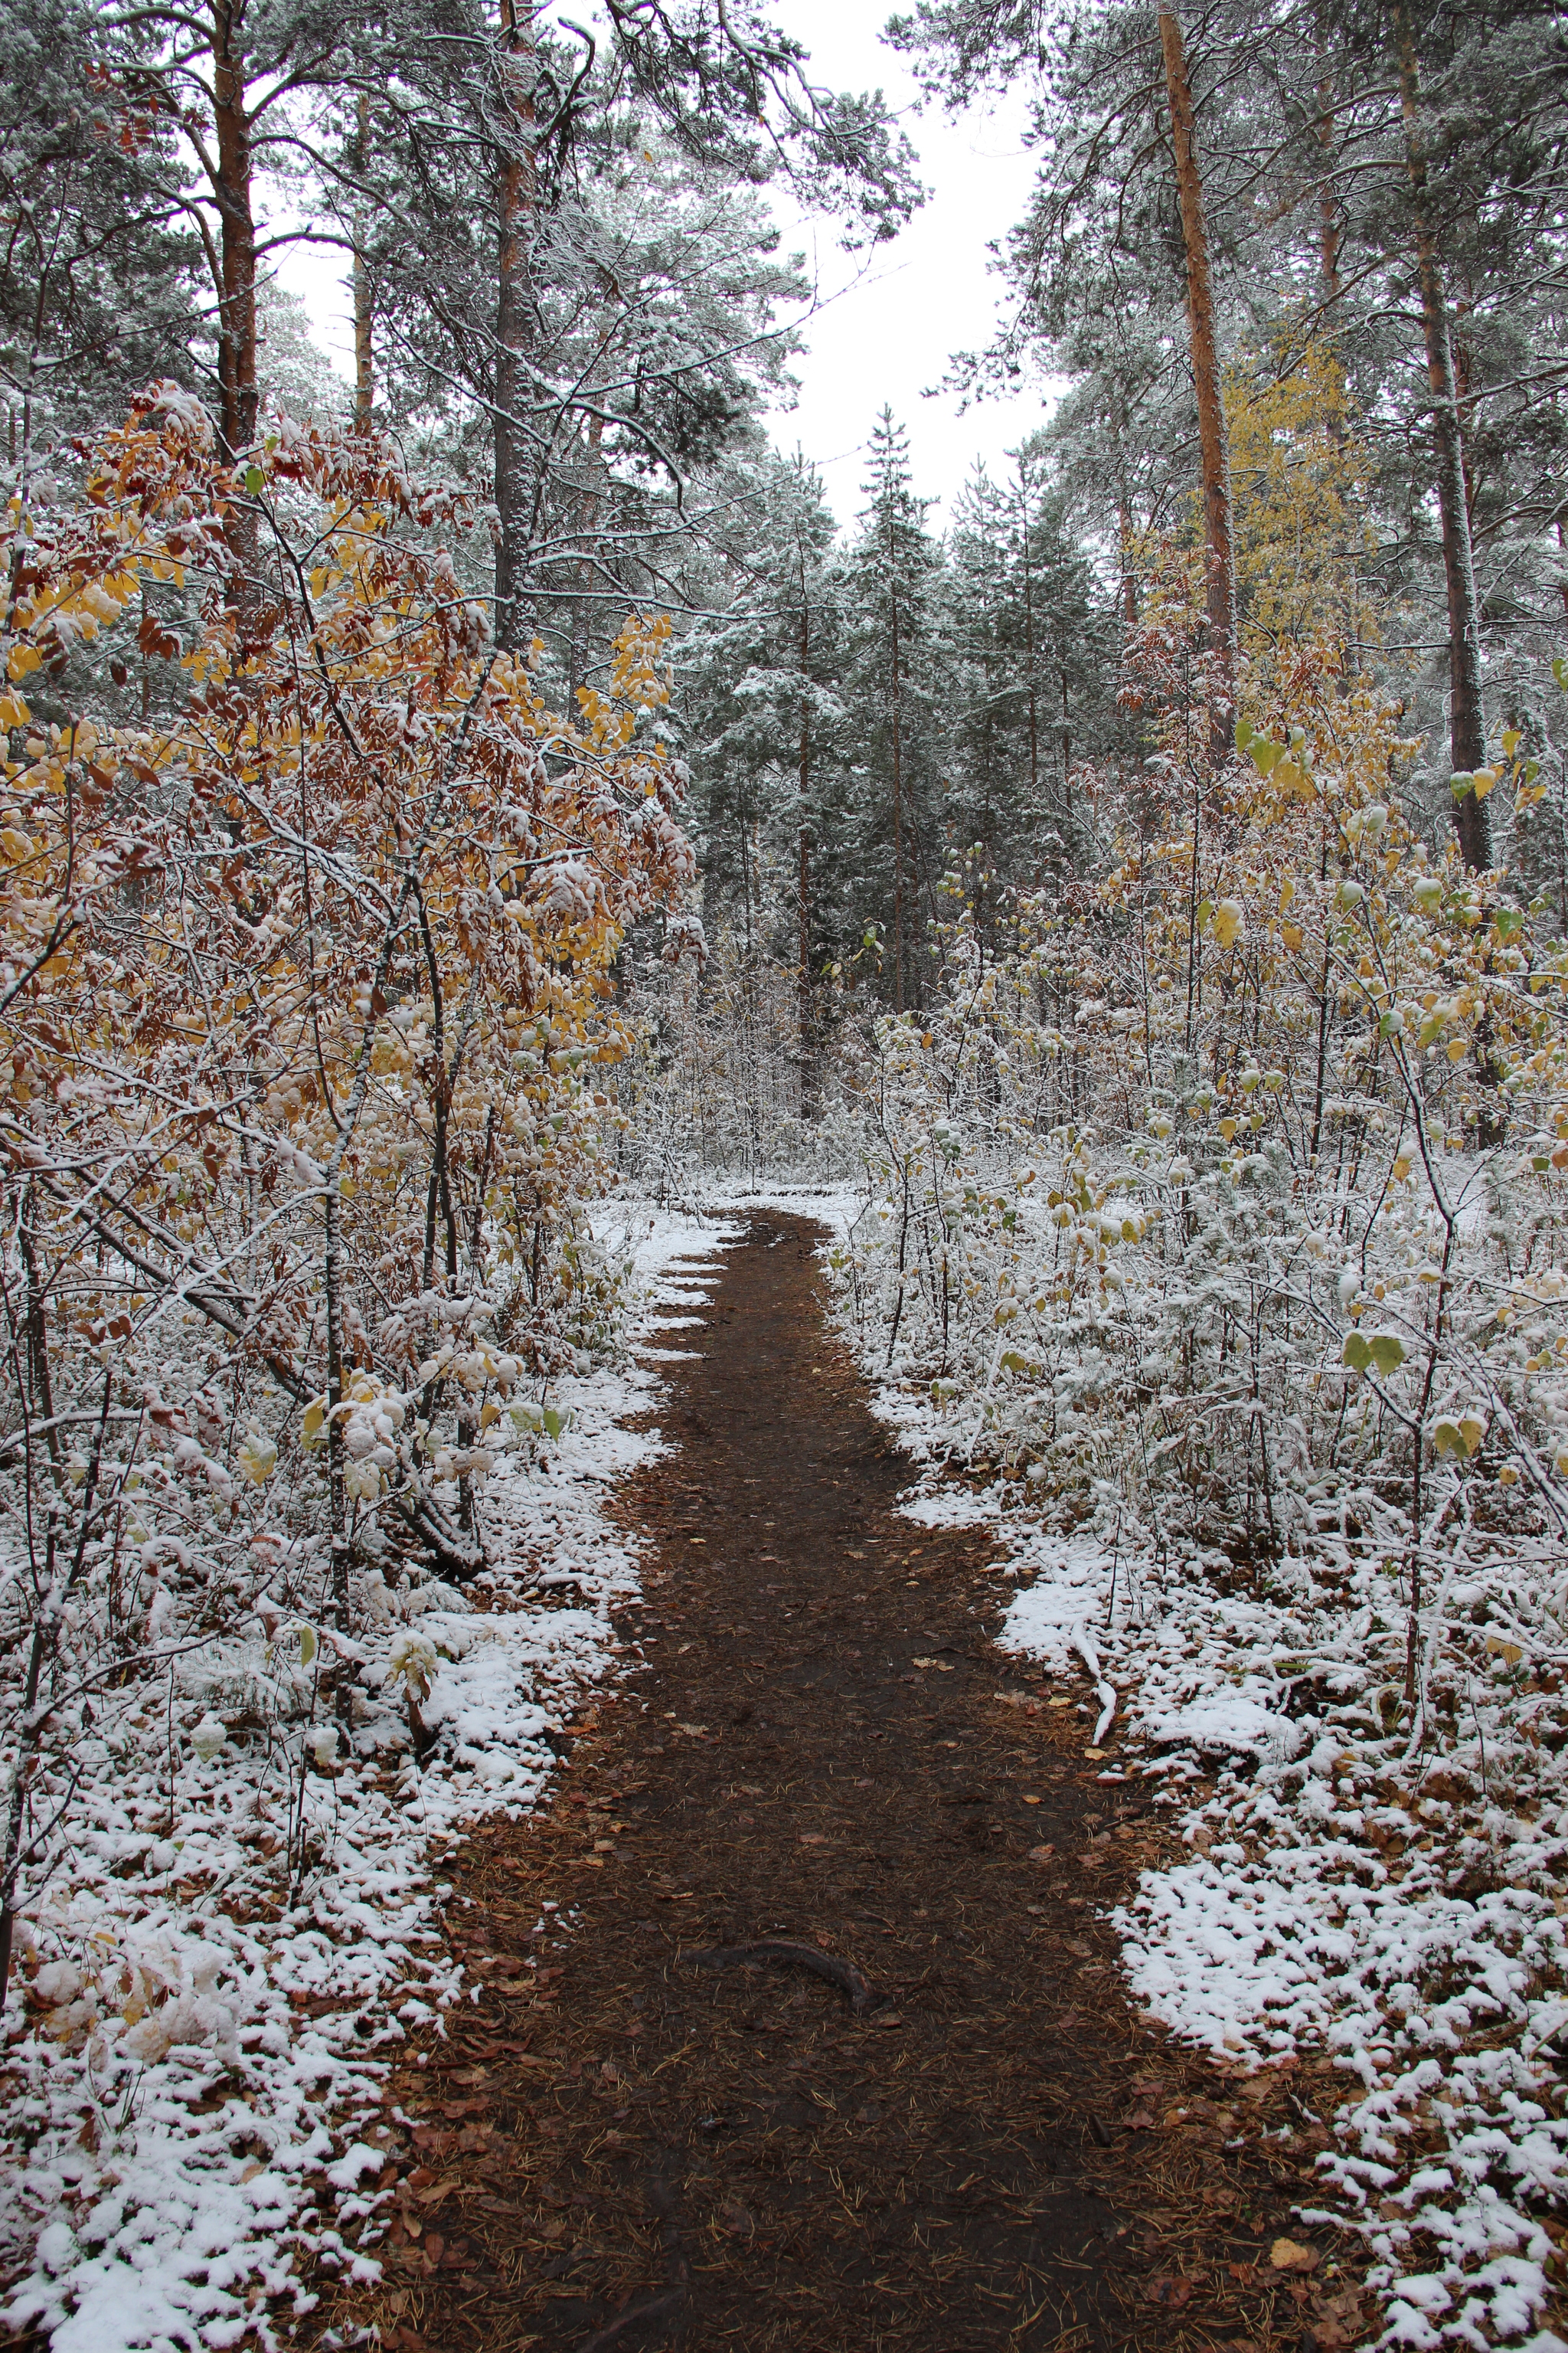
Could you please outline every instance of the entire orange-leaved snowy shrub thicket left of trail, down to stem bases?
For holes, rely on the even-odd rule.
[[[143,1744],[348,1722],[367,1584],[475,1574],[614,1337],[611,967],[691,875],[665,626],[550,713],[480,525],[364,435],[235,473],[172,388],[5,515],[7,1937],[89,1727],[150,1678]]]

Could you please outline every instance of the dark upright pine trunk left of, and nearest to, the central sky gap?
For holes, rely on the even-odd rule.
[[[531,468],[524,409],[527,355],[536,344],[534,216],[534,16],[529,0],[503,0],[501,75],[508,113],[508,153],[496,188],[496,642],[527,649],[534,635],[529,598]]]

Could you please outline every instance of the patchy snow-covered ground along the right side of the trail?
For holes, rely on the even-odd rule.
[[[1307,2217],[1366,2238],[1385,2346],[1561,2348],[1542,2308],[1568,2247],[1568,1753],[1540,1741],[1528,1664],[1490,1645],[1422,1748],[1387,1706],[1396,1562],[1333,1558],[1338,1598],[1239,1591],[1222,1558],[1053,1532],[1023,1480],[947,1478],[926,1395],[875,1402],[922,1466],[903,1511],[994,1525],[1018,1577],[1001,1645],[1072,1694],[1100,1779],[1161,1784],[1187,1857],[1112,1915],[1150,2024],[1244,2071],[1342,2068]],[[1446,1588],[1455,1619],[1476,1598]]]

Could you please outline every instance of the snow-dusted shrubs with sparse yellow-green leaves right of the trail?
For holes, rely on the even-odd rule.
[[[1396,715],[1328,652],[1239,734],[1222,788],[1128,795],[1093,894],[1018,894],[1001,948],[950,875],[940,1002],[863,1066],[835,1264],[940,1442],[1067,1525],[1286,1591],[1352,1511],[1413,1708],[1460,1529],[1500,1628],[1563,1600],[1568,953],[1410,833]],[[1516,739],[1483,788],[1528,802]]]

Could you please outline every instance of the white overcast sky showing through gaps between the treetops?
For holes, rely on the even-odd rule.
[[[914,487],[933,499],[940,527],[976,456],[992,473],[1044,416],[1044,393],[983,400],[933,393],[950,353],[980,348],[997,320],[987,245],[1023,216],[1034,167],[1023,148],[1020,106],[971,111],[950,122],[917,111],[905,61],[879,40],[893,0],[773,0],[769,14],[811,49],[811,78],[832,89],[884,89],[919,148],[931,195],[893,245],[844,254],[830,221],[802,221],[778,202],[785,249],[804,249],[816,282],[806,351],[795,362],[797,405],[773,421],[773,440],[818,466],[837,520],[860,508],[865,445],[884,400],[910,433]],[[308,313],[315,341],[353,376],[348,294],[336,256],[287,247],[280,278]],[[933,393],[926,398],[926,393]]]

